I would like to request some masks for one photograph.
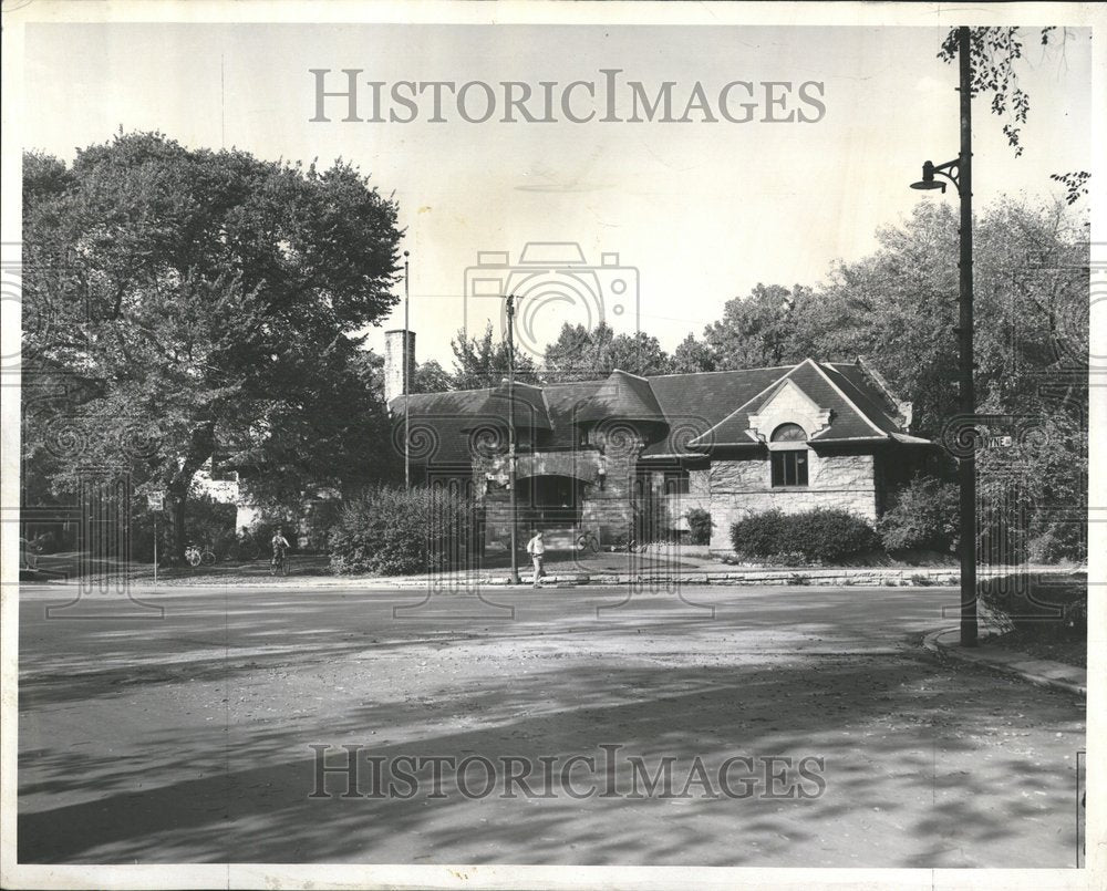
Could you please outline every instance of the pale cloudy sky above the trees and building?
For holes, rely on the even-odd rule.
[[[1022,157],[987,100],[974,103],[977,209],[1004,194],[1051,200],[1062,189],[1049,174],[1090,164],[1089,31],[1070,29],[1062,52],[1043,50],[1030,30],[1018,69],[1031,95]],[[640,328],[672,350],[758,282],[815,284],[835,261],[871,252],[878,227],[902,220],[917,203],[956,199],[952,190],[943,197],[908,188],[923,160],[958,153],[956,69],[937,58],[944,33],[848,25],[33,24],[22,142],[72,159],[76,147],[107,141],[122,126],[159,129],[193,147],[354,163],[399,201],[420,361],[449,367],[458,329],[479,333],[488,320],[498,328],[501,301],[474,290],[495,290],[488,281],[507,273],[474,269],[478,255],[507,252],[509,271],[530,242],[558,242],[557,252],[568,253],[546,261],[541,287],[526,286],[532,290],[523,349],[540,352],[562,322],[602,312],[617,330]],[[361,70],[362,116],[371,115],[370,81],[385,84],[385,97],[400,81],[479,81],[495,91],[520,81],[539,95],[541,82],[556,82],[558,91],[573,81],[600,89],[606,69],[621,70],[621,118],[631,116],[630,81],[651,96],[673,82],[674,116],[696,83],[711,102],[733,81],[754,84],[762,100],[746,123],[717,113],[715,122],[693,114],[687,123],[503,123],[501,100],[497,117],[470,123],[447,95],[447,120],[435,123],[424,93],[412,123],[343,122],[342,99],[327,100],[330,122],[312,122],[312,69],[330,71],[328,90],[344,86],[341,70]],[[765,82],[792,84],[774,116],[803,111],[816,120],[765,122]],[[805,82],[820,84],[811,95],[821,114],[798,101]],[[469,96],[470,116],[480,114],[480,95],[476,87]],[[593,107],[579,89],[575,101],[576,114]],[[602,102],[594,105],[602,114]],[[385,116],[389,108],[404,111],[386,104]],[[584,268],[599,271],[578,269],[567,279],[562,261],[578,256],[576,245]],[[511,288],[521,273],[513,274]],[[369,332],[368,345],[380,351],[384,330],[402,324],[400,305]]]

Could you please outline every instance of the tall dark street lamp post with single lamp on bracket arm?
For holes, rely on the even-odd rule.
[[[945,184],[935,176],[948,179],[961,197],[961,261],[959,287],[958,334],[960,367],[958,383],[960,391],[959,411],[962,423],[971,424],[976,412],[973,392],[973,311],[972,311],[972,60],[970,59],[969,28],[958,29],[958,61],[961,70],[961,154],[944,164],[925,162],[922,179],[912,183],[911,188],[941,189]],[[958,432],[958,441],[963,437]],[[974,442],[975,437],[970,437]],[[958,459],[958,483],[960,487],[961,515],[961,645],[976,645],[976,458],[969,455]]]

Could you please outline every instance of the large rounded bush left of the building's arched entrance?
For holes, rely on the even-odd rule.
[[[344,504],[331,528],[331,569],[399,576],[466,566],[472,518],[472,503],[446,489],[371,489]]]

